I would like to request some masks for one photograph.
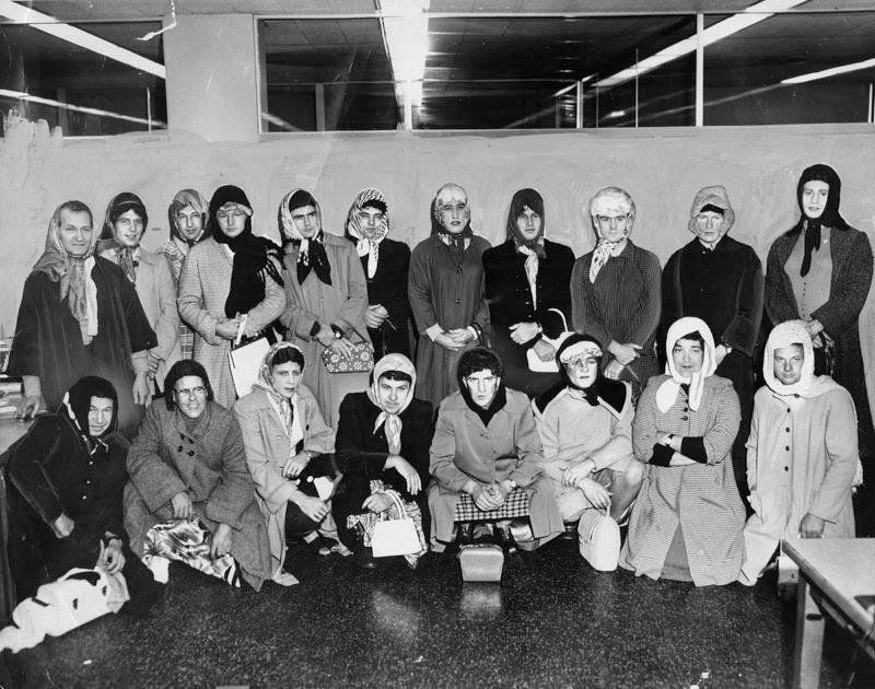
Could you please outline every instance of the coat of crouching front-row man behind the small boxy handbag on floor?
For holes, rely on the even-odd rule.
[[[535,538],[564,530],[550,480],[541,470],[544,452],[528,397],[508,390],[508,404],[485,427],[456,392],[441,402],[430,449],[429,487],[432,542],[448,542],[462,489],[474,479],[483,484],[511,479],[529,495]]]

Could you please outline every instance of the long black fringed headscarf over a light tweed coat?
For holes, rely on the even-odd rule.
[[[207,212],[207,234],[212,235],[219,244],[224,244],[234,254],[231,269],[231,289],[225,300],[225,316],[234,318],[237,314],[247,314],[265,301],[265,282],[267,276],[282,285],[278,265],[282,265],[280,248],[267,237],[253,234],[252,215],[246,217],[246,225],[235,237],[229,237],[219,227],[215,214],[225,203],[238,203],[252,209],[249,199],[243,189],[233,185],[219,187],[210,199]],[[275,262],[276,261],[276,262]]]

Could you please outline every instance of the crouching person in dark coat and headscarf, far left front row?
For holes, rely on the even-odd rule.
[[[40,416],[5,453],[9,556],[22,600],[70,569],[121,572],[135,605],[161,595],[128,547],[121,516],[127,440],[109,381],[85,376],[57,413]]]

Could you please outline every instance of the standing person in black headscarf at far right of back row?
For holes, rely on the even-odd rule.
[[[860,455],[875,471],[875,431],[866,394],[860,312],[872,284],[868,237],[839,213],[841,179],[829,165],[806,167],[796,186],[801,217],[769,249],[766,311],[773,324],[803,319],[815,347],[815,373],[831,375],[856,407]]]

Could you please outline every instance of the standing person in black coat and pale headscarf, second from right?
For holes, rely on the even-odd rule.
[[[726,233],[735,211],[726,189],[702,187],[696,194],[687,229],[696,235],[672,254],[663,269],[660,342],[682,316],[708,324],[716,344],[716,375],[730,378],[742,406],[742,423],[732,448],[738,492],[747,495],[745,441],[754,409],[754,350],[762,320],[762,265],[747,244]],[[663,352],[669,358],[670,351]]]

